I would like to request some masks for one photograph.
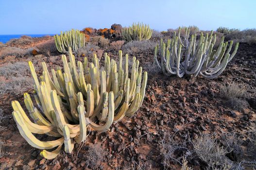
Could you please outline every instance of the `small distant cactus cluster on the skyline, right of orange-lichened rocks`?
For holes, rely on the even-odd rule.
[[[143,23],[133,23],[132,26],[122,29],[122,37],[126,41],[142,41],[151,38],[153,30],[150,29],[149,25]]]

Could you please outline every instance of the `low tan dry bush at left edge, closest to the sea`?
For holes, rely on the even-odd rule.
[[[18,47],[3,47],[0,52],[0,57],[14,55],[16,57],[23,57],[28,54],[28,51],[18,48]]]

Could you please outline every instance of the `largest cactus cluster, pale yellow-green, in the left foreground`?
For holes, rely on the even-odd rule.
[[[29,67],[34,79],[35,107],[30,95],[24,94],[24,102],[32,122],[17,101],[12,102],[13,117],[18,130],[26,141],[42,149],[41,156],[52,159],[64,144],[65,152],[71,153],[74,142],[85,141],[86,129],[91,127],[105,132],[114,121],[132,116],[141,106],[147,84],[147,72],[142,79],[142,68],[133,57],[131,73],[128,69],[128,55],[122,66],[122,51],[119,64],[105,53],[105,65],[101,70],[96,54],[93,62],[75,63],[69,47],[69,62],[62,55],[63,71],[51,69],[51,76],[43,62],[42,75],[37,78],[32,62]],[[51,79],[52,77],[52,79]],[[33,134],[58,137],[52,141],[40,141]],[[48,149],[56,148],[53,151]]]

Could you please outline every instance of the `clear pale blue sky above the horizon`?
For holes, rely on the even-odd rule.
[[[0,0],[0,34],[58,34],[133,22],[157,31],[256,28],[256,0]]]

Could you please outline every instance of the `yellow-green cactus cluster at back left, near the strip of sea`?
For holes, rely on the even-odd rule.
[[[61,53],[68,53],[69,47],[72,51],[77,51],[85,46],[85,34],[74,29],[54,35],[54,40],[57,50]]]

